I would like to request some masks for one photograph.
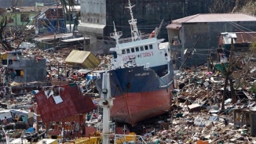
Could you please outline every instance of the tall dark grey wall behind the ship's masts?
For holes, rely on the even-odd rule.
[[[165,20],[160,31],[159,38],[167,40],[166,25],[171,20],[185,16],[185,1],[177,0],[131,0],[133,16],[137,19],[137,27],[141,33],[152,33],[155,27],[159,27],[161,20]],[[113,32],[113,21],[118,31],[123,31],[123,38],[130,37],[130,10],[125,7],[128,0],[107,1],[107,27],[105,35]]]

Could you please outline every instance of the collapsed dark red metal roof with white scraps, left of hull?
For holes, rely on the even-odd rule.
[[[90,96],[83,96],[76,84],[64,85],[61,88],[64,88],[60,91],[63,102],[58,104],[55,103],[53,96],[47,99],[44,91],[35,95],[43,122],[59,121],[75,114],[88,113],[96,108]]]

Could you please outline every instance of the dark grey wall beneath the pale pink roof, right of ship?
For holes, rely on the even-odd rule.
[[[195,45],[197,39],[201,37],[199,43],[196,45],[195,54],[188,59],[186,64],[188,66],[191,66],[206,62],[206,58],[207,56],[209,56],[209,52],[214,51],[214,48],[218,48],[218,38],[221,32],[248,31],[241,27],[234,27],[233,23],[237,23],[240,26],[246,27],[251,31],[256,31],[256,21],[230,23],[183,23],[181,27],[182,52],[185,49],[188,49],[189,52],[192,49],[193,45]],[[185,57],[186,56],[187,55],[185,55]]]

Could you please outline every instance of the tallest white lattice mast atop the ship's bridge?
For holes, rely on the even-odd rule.
[[[141,40],[141,34],[140,32],[137,30],[137,19],[133,19],[133,11],[132,8],[135,5],[131,5],[130,0],[129,1],[129,6],[126,7],[128,9],[130,9],[130,16],[131,16],[131,20],[128,20],[129,24],[130,24],[130,31],[131,31],[131,36],[132,36],[132,41],[137,41],[137,40]]]

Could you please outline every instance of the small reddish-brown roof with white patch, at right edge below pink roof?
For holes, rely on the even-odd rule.
[[[256,32],[232,32],[232,33],[221,33],[219,43],[221,45],[231,44],[231,38],[234,38],[234,43],[251,43],[256,37]]]

